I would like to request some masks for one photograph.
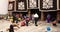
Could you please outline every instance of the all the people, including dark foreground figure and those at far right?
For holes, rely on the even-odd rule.
[[[51,22],[51,20],[50,20],[50,14],[48,14],[47,15],[47,18],[46,18],[46,20],[47,20],[47,23],[50,23]],[[8,17],[9,18],[9,17]],[[35,26],[38,26],[37,25],[37,22],[38,22],[38,18],[39,18],[39,15],[37,14],[37,13],[35,13],[35,14],[32,14],[32,15],[28,15],[28,14],[26,14],[26,15],[22,15],[22,14],[14,14],[13,16],[11,16],[9,19],[10,19],[10,21],[12,22],[12,24],[10,25],[10,29],[9,29],[9,31],[11,32],[11,31],[13,31],[14,29],[13,29],[13,27],[18,27],[18,28],[20,28],[20,26],[29,26],[29,22],[30,22],[30,20],[34,20],[34,24],[35,24]],[[52,22],[52,24],[53,24],[53,26],[57,26],[56,25],[56,21],[54,21],[54,22]],[[12,30],[11,30],[12,29]],[[13,31],[14,32],[14,31]]]

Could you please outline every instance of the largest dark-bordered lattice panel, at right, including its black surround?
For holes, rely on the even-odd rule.
[[[56,10],[57,0],[40,0],[40,10]]]

